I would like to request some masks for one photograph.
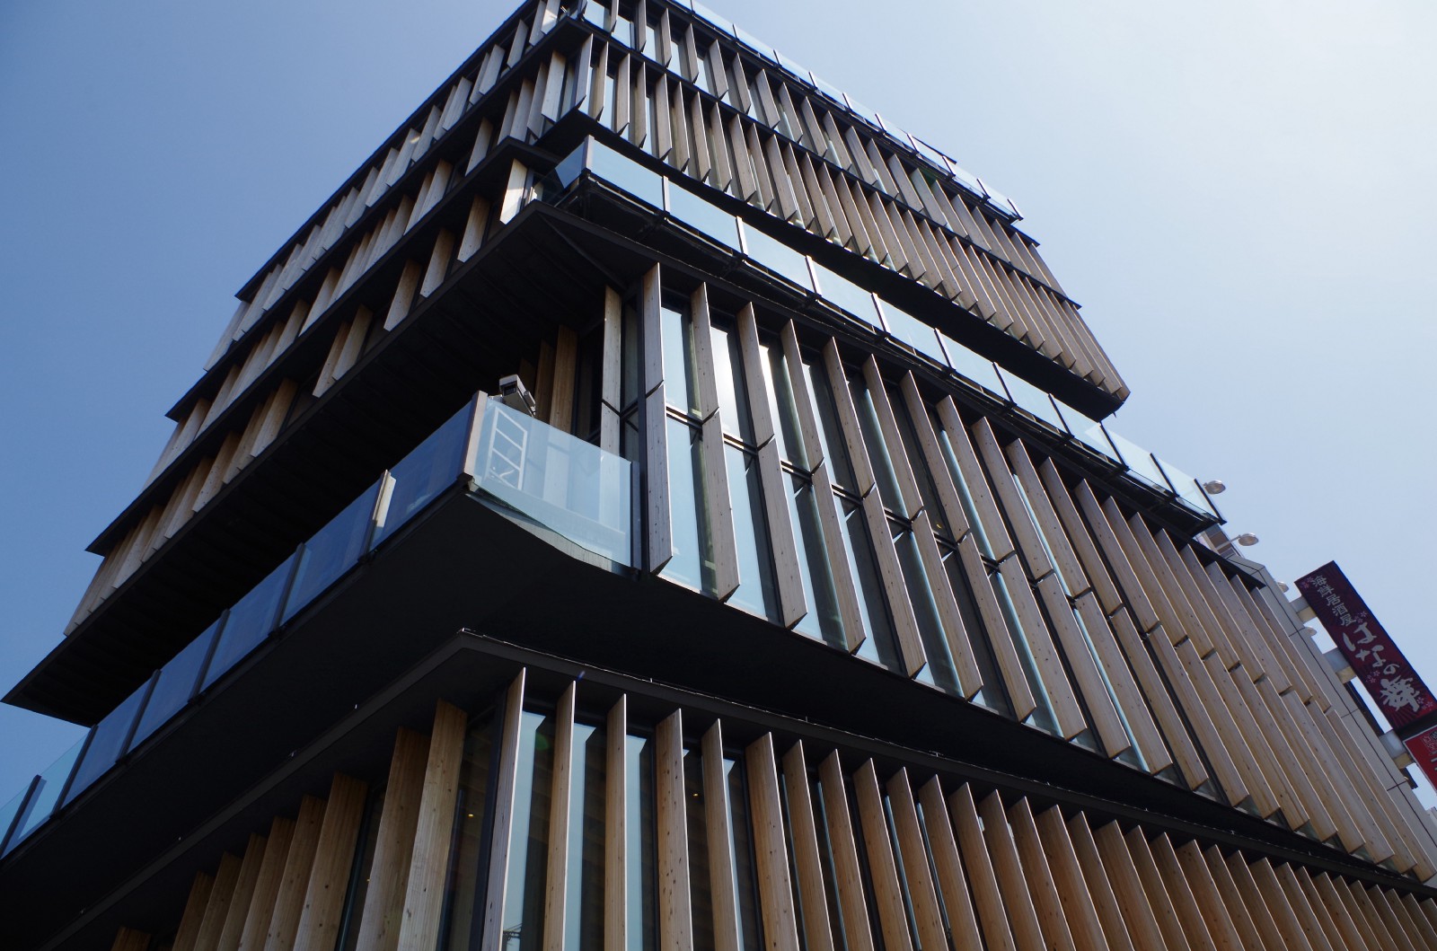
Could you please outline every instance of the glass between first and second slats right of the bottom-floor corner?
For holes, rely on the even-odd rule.
[[[549,800],[553,784],[553,718],[525,711],[519,724],[514,807],[509,827],[502,947],[543,947],[543,892],[549,865]]]

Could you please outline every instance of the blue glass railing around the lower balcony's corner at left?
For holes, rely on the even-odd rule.
[[[476,427],[479,438],[471,440]],[[466,458],[471,445],[476,455]],[[385,471],[0,807],[0,856],[313,605],[461,476],[481,494],[575,544],[632,565],[632,464],[480,396]]]

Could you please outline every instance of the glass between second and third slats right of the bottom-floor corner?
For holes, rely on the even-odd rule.
[[[563,947],[604,947],[604,764],[608,734],[602,727],[573,724],[569,790],[569,873],[565,896]]]

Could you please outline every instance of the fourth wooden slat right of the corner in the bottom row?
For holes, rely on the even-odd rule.
[[[681,711],[654,731],[654,800],[658,827],[658,942],[674,951],[694,947],[688,895],[688,803],[684,796]]]

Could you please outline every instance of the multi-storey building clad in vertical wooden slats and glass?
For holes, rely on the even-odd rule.
[[[701,9],[522,7],[241,290],[10,694],[96,724],[0,813],[11,942],[1437,942],[1017,220]]]

